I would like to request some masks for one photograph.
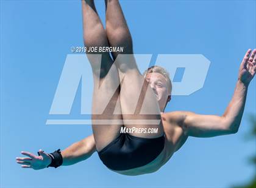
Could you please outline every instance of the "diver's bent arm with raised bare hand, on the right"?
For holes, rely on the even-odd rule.
[[[188,136],[212,137],[238,132],[244,112],[249,83],[255,76],[256,49],[247,50],[241,62],[235,92],[222,116],[198,115],[192,112],[171,112],[169,119],[180,117],[182,127]]]

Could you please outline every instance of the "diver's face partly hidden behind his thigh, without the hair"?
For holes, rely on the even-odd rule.
[[[168,82],[160,73],[148,73],[146,81],[149,82],[149,86],[154,91],[160,110],[163,112],[169,96]]]

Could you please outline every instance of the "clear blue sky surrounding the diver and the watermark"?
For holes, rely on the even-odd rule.
[[[244,53],[256,47],[255,1],[121,1],[135,53],[202,54],[204,87],[173,96],[166,111],[222,115]],[[97,1],[104,21],[104,2]],[[113,173],[94,153],[73,166],[21,169],[21,150],[53,152],[91,134],[90,126],[46,126],[66,55],[82,46],[80,1],[1,1],[1,187],[229,187],[251,180],[247,116],[256,114],[255,78],[235,135],[188,138],[158,172]],[[170,62],[171,63],[171,62]],[[91,75],[88,75],[88,77]],[[89,95],[89,94],[88,94]],[[80,113],[77,92],[71,116]]]

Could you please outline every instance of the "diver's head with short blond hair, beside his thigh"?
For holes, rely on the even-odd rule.
[[[171,100],[172,84],[169,73],[163,67],[154,65],[143,73],[157,97],[161,112],[165,110],[166,104]]]

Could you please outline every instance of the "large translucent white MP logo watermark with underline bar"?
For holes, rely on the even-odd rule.
[[[171,95],[190,95],[191,93],[196,92],[204,86],[204,81],[208,73],[208,69],[210,67],[210,61],[205,58],[201,54],[196,55],[175,55],[175,54],[160,54],[157,55],[155,61],[152,63],[152,55],[149,54],[135,54],[135,55],[118,55],[118,58],[115,59],[114,64],[110,67],[109,72],[104,76],[104,79],[108,79],[111,77],[116,71],[118,74],[119,62],[126,61],[130,56],[134,56],[137,62],[138,69],[141,73],[144,70],[147,70],[148,67],[152,65],[159,65],[165,68],[170,75],[172,81],[172,93]],[[92,98],[93,98],[93,88],[95,92],[95,88],[97,92],[104,92],[104,79],[98,84],[98,86],[94,86],[96,83],[93,81],[95,79],[100,78],[100,73],[93,72],[91,69],[91,65],[89,62],[94,61],[98,63],[94,63],[93,67],[95,70],[101,69],[101,55],[87,55],[84,54],[69,54],[66,56],[65,64],[63,66],[62,73],[60,75],[59,84],[55,91],[54,99],[51,104],[51,109],[49,110],[49,116],[52,118],[48,118],[46,121],[47,125],[50,124],[85,124],[90,125],[93,121],[93,124],[104,125],[108,123],[112,124],[123,124],[122,119],[115,119],[113,123],[113,119],[108,119],[109,114],[104,116],[104,112],[106,108],[109,107],[111,100],[113,99],[113,95],[115,95],[116,90],[119,88],[120,83],[114,81],[112,83],[112,91],[113,95],[105,96],[103,100],[101,100],[101,106],[97,109],[93,114],[91,113],[92,109]],[[124,59],[124,60],[123,60]],[[114,66],[115,65],[115,66]],[[180,79],[176,79],[177,73],[181,72]],[[95,78],[97,76],[98,78]],[[125,74],[119,74],[120,82],[124,79]],[[80,87],[79,87],[80,86]],[[114,88],[114,89],[113,89]],[[132,90],[132,85],[130,86]],[[141,87],[142,89],[142,87]],[[80,97],[80,115],[83,115],[85,118],[74,119],[70,118],[71,108],[73,107],[74,99],[76,97],[77,92],[81,93]],[[111,94],[111,93],[110,93]],[[138,92],[138,95],[140,93]],[[113,103],[113,102],[112,102]],[[115,103],[116,104],[116,103]],[[136,106],[135,106],[136,107]],[[113,107],[112,107],[113,109]],[[113,110],[112,115],[117,115],[116,111]],[[134,111],[135,112],[135,108]],[[143,104],[141,109],[141,114],[143,115]],[[56,115],[62,115],[64,118],[54,118]],[[92,116],[100,116],[103,115],[104,118],[93,119]],[[124,115],[124,114],[122,114]],[[129,113],[127,115],[135,115],[135,113]],[[140,114],[136,114],[138,116]],[[149,115],[149,114],[147,114]],[[68,119],[67,119],[68,118]],[[126,119],[126,124],[134,124],[140,122],[138,118],[131,118],[129,121]],[[143,124],[157,124],[159,119],[141,119]]]

